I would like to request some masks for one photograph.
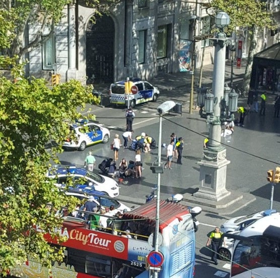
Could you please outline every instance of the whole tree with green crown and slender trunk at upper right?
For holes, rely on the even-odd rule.
[[[275,23],[271,13],[266,10],[265,1],[261,0],[213,0],[211,6],[214,13],[226,12],[231,19],[228,32],[234,32],[236,27],[247,27],[250,31],[250,48],[244,75],[244,88],[249,89],[253,56],[256,53],[258,30],[267,27],[274,29]]]

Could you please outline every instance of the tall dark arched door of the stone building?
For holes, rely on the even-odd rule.
[[[96,16],[86,31],[86,74],[88,84],[112,83],[114,70],[114,22],[110,16]]]

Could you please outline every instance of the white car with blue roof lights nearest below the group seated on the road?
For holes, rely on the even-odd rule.
[[[67,180],[72,178],[75,187],[90,187],[91,190],[104,192],[110,197],[117,197],[119,195],[119,186],[114,179],[87,171],[85,168],[76,166],[53,166],[48,171],[47,176],[50,179],[56,180],[55,184],[57,187],[65,187],[67,185]]]

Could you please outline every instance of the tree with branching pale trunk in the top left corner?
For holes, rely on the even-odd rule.
[[[100,15],[100,11],[106,13],[108,7],[116,3],[116,0],[88,0],[87,5],[95,9],[95,13]],[[10,57],[17,56],[21,61],[23,55],[32,49],[42,45],[54,33],[55,25],[65,17],[63,9],[68,4],[75,3],[75,0],[3,0],[0,2],[0,37],[4,36],[4,41],[0,40],[0,49],[7,50]],[[5,22],[5,24],[1,24]],[[26,43],[24,32],[29,25],[40,26],[35,38]],[[42,37],[43,31],[49,29],[49,33]],[[9,31],[9,32],[8,32]],[[7,36],[8,34],[8,36]],[[7,42],[9,42],[7,44]]]

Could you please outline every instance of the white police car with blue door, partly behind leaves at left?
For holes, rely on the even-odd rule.
[[[94,122],[79,120],[69,125],[69,129],[70,131],[74,131],[77,140],[67,138],[62,145],[65,149],[71,148],[84,151],[88,146],[101,142],[108,143],[110,140],[110,131]]]

